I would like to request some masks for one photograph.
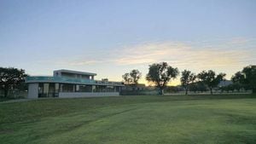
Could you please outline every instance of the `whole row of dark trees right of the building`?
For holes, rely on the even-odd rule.
[[[150,84],[154,84],[158,89],[160,95],[170,90],[170,87],[166,85],[173,79],[176,79],[178,75],[181,75],[180,82],[185,90],[185,94],[188,95],[188,91],[207,91],[218,87],[220,82],[225,81],[226,74],[224,72],[216,73],[212,70],[202,71],[198,74],[184,70],[179,72],[177,67],[169,66],[166,62],[154,63],[149,65],[146,80]],[[136,86],[138,79],[142,77],[142,73],[138,70],[132,70],[130,73],[123,75],[125,84],[133,84]],[[232,84],[219,87],[221,91],[240,91],[241,89],[251,89],[253,93],[256,93],[256,66],[246,66],[240,72],[236,72],[232,78]],[[177,87],[172,87],[172,90],[180,90]]]

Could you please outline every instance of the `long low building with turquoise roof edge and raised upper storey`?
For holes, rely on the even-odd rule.
[[[70,70],[54,71],[53,77],[27,77],[28,98],[118,96],[121,82],[95,80],[96,73]]]

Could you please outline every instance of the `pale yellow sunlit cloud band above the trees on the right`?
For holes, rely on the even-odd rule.
[[[147,43],[126,47],[115,58],[118,65],[150,64],[167,61],[181,67],[223,67],[240,66],[250,56],[247,49],[225,49],[195,47],[187,43]]]

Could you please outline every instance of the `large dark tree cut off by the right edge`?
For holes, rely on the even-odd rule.
[[[256,66],[244,67],[241,72],[236,72],[232,81],[243,84],[245,87],[253,89],[253,93],[256,93]]]

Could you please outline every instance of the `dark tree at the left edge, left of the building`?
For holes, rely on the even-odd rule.
[[[22,69],[0,67],[0,88],[4,91],[4,97],[7,97],[9,89],[18,87],[25,82],[26,76]]]

